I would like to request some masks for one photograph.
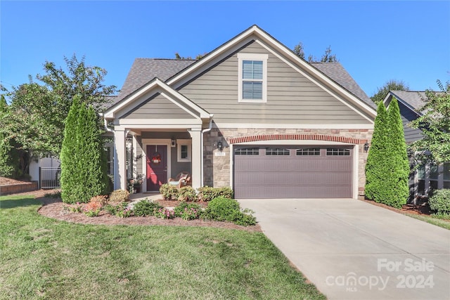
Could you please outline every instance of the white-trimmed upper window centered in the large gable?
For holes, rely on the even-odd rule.
[[[238,53],[238,101],[267,102],[267,54]]]

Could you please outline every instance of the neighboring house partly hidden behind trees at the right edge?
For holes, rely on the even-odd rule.
[[[384,100],[386,106],[389,106],[393,97],[397,98],[399,103],[406,143],[410,144],[423,138],[422,131],[411,128],[409,123],[420,117],[421,113],[418,110],[425,104],[423,102],[425,92],[389,91]],[[428,196],[430,190],[442,188],[450,188],[450,163],[447,162],[440,166],[426,164],[420,166],[417,170],[411,169],[409,178],[410,201],[415,200],[416,197]]]

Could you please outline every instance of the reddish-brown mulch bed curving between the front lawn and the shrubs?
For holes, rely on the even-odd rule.
[[[238,226],[229,222],[218,221],[203,221],[203,220],[191,220],[185,221],[181,218],[175,218],[172,220],[158,219],[155,216],[131,216],[128,218],[120,218],[118,216],[112,216],[108,211],[101,211],[99,216],[89,217],[81,213],[72,213],[67,209],[64,209],[67,204],[61,202],[60,199],[45,197],[44,195],[51,193],[49,190],[35,190],[33,192],[20,193],[15,195],[34,195],[38,200],[42,202],[42,207],[38,209],[38,213],[42,216],[46,216],[52,219],[60,221],[66,221],[70,223],[82,223],[93,225],[140,225],[140,226],[197,226],[197,227],[214,227],[214,228],[226,228],[226,229],[238,229],[249,232],[262,232],[261,227],[256,226]],[[179,202],[177,201],[164,201],[158,200],[164,207],[176,207]],[[203,207],[207,206],[205,202],[197,202]]]

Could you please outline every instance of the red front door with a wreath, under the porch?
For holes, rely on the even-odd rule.
[[[147,145],[147,190],[159,191],[167,183],[167,145]]]

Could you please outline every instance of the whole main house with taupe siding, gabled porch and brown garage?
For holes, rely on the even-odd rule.
[[[375,105],[339,63],[309,63],[252,26],[200,60],[138,58],[113,123],[115,188],[127,148],[143,191],[191,173],[236,198],[364,195]]]

